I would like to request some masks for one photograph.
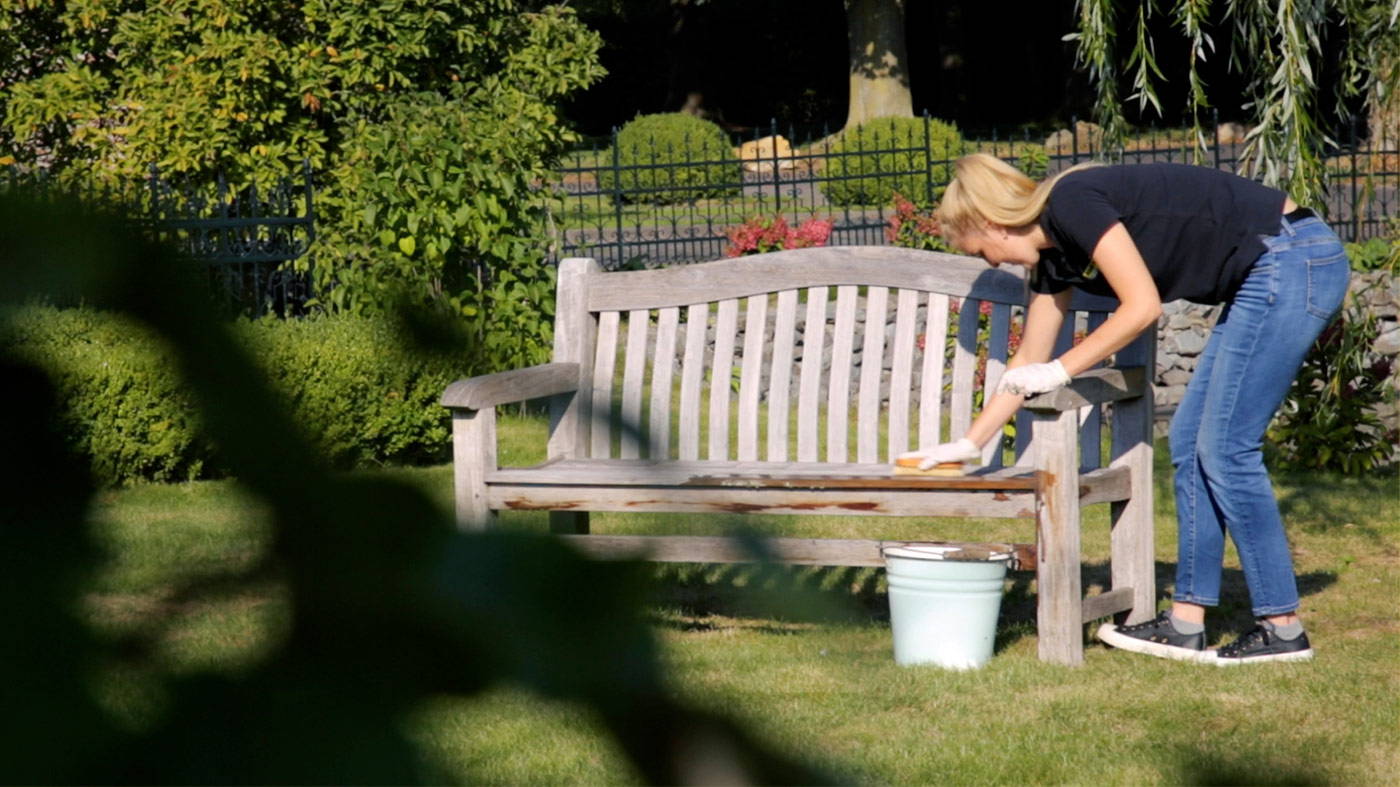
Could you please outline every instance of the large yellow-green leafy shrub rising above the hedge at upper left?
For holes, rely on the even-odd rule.
[[[409,294],[472,322],[487,365],[547,347],[539,195],[556,105],[602,76],[598,36],[524,0],[0,0],[17,165],[129,182],[319,174],[326,308]]]

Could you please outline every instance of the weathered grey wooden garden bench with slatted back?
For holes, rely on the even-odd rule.
[[[547,510],[553,532],[596,557],[745,562],[757,557],[755,550],[728,538],[585,535],[588,513],[762,511],[802,515],[860,513],[1035,518],[1033,549],[1029,545],[1009,546],[1016,550],[1022,569],[1033,567],[1036,571],[1042,660],[1082,662],[1084,623],[1089,620],[1119,615],[1121,620],[1138,622],[1154,615],[1152,391],[1147,371],[1155,364],[1155,330],[1144,332],[1133,344],[1120,350],[1114,358],[1119,367],[1091,370],[1065,388],[1029,399],[1023,413],[1018,416],[1021,440],[1015,466],[1000,466],[1000,451],[988,447],[984,454],[988,466],[965,478],[892,478],[889,461],[895,452],[906,450],[902,443],[906,443],[910,431],[909,420],[902,413],[917,406],[924,420],[932,420],[930,429],[942,429],[942,405],[948,399],[942,384],[944,368],[924,368],[925,375],[937,375],[925,377],[935,381],[930,389],[935,391],[932,399],[937,401],[925,396],[918,402],[896,392],[907,381],[886,382],[881,388],[879,370],[867,374],[867,368],[861,368],[860,391],[848,398],[851,402],[858,399],[857,419],[861,422],[857,430],[860,436],[855,438],[855,462],[848,461],[850,447],[833,437],[837,431],[829,434],[826,457],[813,457],[816,444],[811,438],[808,447],[798,450],[801,461],[788,461],[788,410],[787,403],[777,401],[791,385],[785,377],[773,381],[773,388],[767,391],[773,402],[767,406],[776,417],[770,422],[781,419],[784,426],[778,431],[770,431],[769,457],[763,459],[757,455],[762,436],[757,436],[759,394],[755,386],[762,374],[755,370],[763,364],[762,368],[770,368],[771,375],[777,377],[785,374],[783,367],[791,370],[795,365],[791,342],[774,342],[770,354],[777,357],[770,360],[763,353],[763,337],[791,335],[797,311],[795,293],[806,287],[818,287],[819,290],[806,291],[820,293],[822,298],[826,287],[836,287],[839,293],[834,321],[837,353],[850,353],[850,344],[855,340],[854,335],[841,336],[841,325],[850,330],[851,325],[864,322],[865,315],[853,316],[851,309],[858,312],[864,304],[864,309],[879,309],[883,318],[890,291],[899,298],[900,326],[896,329],[895,351],[904,356],[911,351],[907,342],[911,329],[903,321],[911,302],[906,298],[914,297],[913,293],[935,294],[930,295],[927,314],[934,314],[935,305],[946,302],[939,301],[939,295],[993,304],[991,350],[983,382],[988,392],[1004,370],[1005,326],[1009,325],[1011,307],[1023,304],[1026,298],[1018,272],[994,270],[972,258],[888,246],[799,249],[680,269],[620,273],[603,273],[591,259],[563,260],[556,301],[554,361],[461,379],[448,386],[442,396],[442,405],[452,412],[459,527],[490,528],[496,513],[501,510]],[[864,301],[853,295],[855,287],[868,293]],[[766,304],[774,297],[778,298],[778,308],[776,316],[770,318]],[[809,295],[809,307],[813,300],[818,298]],[[643,398],[641,364],[657,363],[652,356],[665,356],[669,351],[666,347],[675,346],[675,312],[679,309],[694,309],[696,304],[718,304],[717,316],[708,308],[690,311],[687,325],[703,325],[707,330],[714,330],[717,343],[710,356],[720,360],[713,360],[704,351],[694,354],[694,347],[690,347],[683,363],[679,357],[676,364],[669,360],[658,363],[657,368],[662,371],[652,371],[654,381],[658,374],[664,374],[669,392],[672,365],[736,363],[735,323],[741,301],[748,304],[748,330],[743,351],[738,353],[742,379],[736,451],[728,445],[729,394],[718,386],[711,389],[710,452],[706,458],[699,457],[699,433],[690,436],[689,445],[678,448],[669,444],[672,427],[661,426],[661,422],[671,424],[678,417],[701,417],[694,382],[682,382],[680,413],[671,412],[671,396],[652,401],[650,415],[654,423],[648,436],[638,434],[637,427],[623,429],[615,423],[622,420],[638,424],[643,420],[638,405]],[[965,305],[966,302],[963,301]],[[1112,300],[1077,294],[1071,309],[1092,312],[1088,316],[1088,328],[1092,329],[1114,307]],[[672,309],[669,322],[668,316],[659,321],[651,318],[651,309]],[[963,309],[960,315],[960,335],[976,335],[977,316],[970,312],[972,309]],[[617,315],[630,316],[629,325],[643,325],[650,332],[627,329],[624,346],[617,335]],[[826,312],[818,314],[809,308],[809,321],[825,318]],[[778,333],[773,332],[774,321]],[[651,328],[652,322],[659,322],[661,326]],[[1085,321],[1081,318],[1079,323],[1084,325]],[[769,326],[767,332],[764,325]],[[934,325],[932,318],[928,325]],[[1074,328],[1075,321],[1068,319],[1057,351],[1068,344]],[[969,330],[970,333],[965,333]],[[881,344],[883,337],[875,333],[881,332],[867,335],[865,340],[869,343],[865,349],[878,354],[885,347]],[[844,350],[841,342],[846,343]],[[661,349],[652,349],[652,343]],[[619,353],[624,356],[624,391],[620,413],[613,415],[617,394],[613,391],[612,364]],[[946,420],[951,422],[949,434],[958,436],[972,417],[976,347],[963,342],[953,353],[951,364],[945,364],[953,367],[951,417]],[[848,356],[846,360],[848,361]],[[734,368],[731,365],[731,371]],[[827,389],[844,386],[846,382],[837,382],[837,375],[850,381],[853,374],[855,372],[841,367],[832,372],[825,385]],[[725,378],[722,385],[727,384]],[[805,379],[802,385],[805,391]],[[882,403],[882,391],[888,392],[888,405]],[[832,394],[829,403],[834,406],[843,401],[843,391]],[[550,399],[549,459],[533,468],[500,468],[496,455],[496,408],[539,398]],[[1100,417],[1105,415],[1103,405],[1110,402],[1112,459],[1099,468],[1095,465]],[[808,399],[804,406],[809,405]],[[844,409],[836,408],[826,417],[841,419],[830,429],[844,434],[848,431],[844,422],[848,413],[841,410]],[[865,437],[871,431],[865,419],[872,417],[872,413],[878,417],[882,410],[888,410],[889,431],[895,436],[885,447],[876,445],[876,438]],[[925,443],[930,433],[923,426],[920,429],[918,443]],[[939,433],[931,434],[937,441]],[[805,436],[798,436],[799,445],[804,438]],[[652,441],[651,445],[647,445],[648,440]],[[686,443],[686,438],[682,437],[680,441]],[[648,451],[651,458],[643,455]],[[1086,466],[1081,468],[1081,462]],[[1082,506],[1092,503],[1112,506],[1112,590],[1082,598],[1079,511]],[[778,538],[763,543],[762,556],[802,564],[883,566],[881,549],[892,543],[904,542]]]

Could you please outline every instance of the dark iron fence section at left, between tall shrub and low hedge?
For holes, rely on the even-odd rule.
[[[259,316],[295,314],[311,297],[309,274],[288,265],[315,239],[309,164],[300,176],[259,188],[182,183],[151,167],[134,183],[59,183],[42,172],[10,168],[0,188],[76,196],[115,210],[151,238],[203,267],[210,293],[230,311]]]

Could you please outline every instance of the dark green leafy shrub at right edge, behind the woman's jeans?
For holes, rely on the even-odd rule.
[[[1376,413],[1378,406],[1396,403],[1394,370],[1371,351],[1379,330],[1364,298],[1354,293],[1317,337],[1268,427],[1282,468],[1357,475],[1396,459],[1400,434]]]

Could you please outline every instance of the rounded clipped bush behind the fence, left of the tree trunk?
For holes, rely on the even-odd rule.
[[[613,171],[616,157],[617,171]],[[739,193],[739,160],[720,126],[671,112],[640,115],[617,132],[599,169],[601,190],[622,190],[627,202],[668,204]]]

